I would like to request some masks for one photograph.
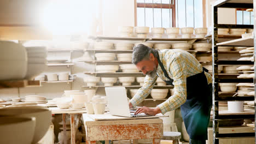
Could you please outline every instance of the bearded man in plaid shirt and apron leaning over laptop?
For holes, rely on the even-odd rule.
[[[134,47],[132,63],[146,74],[144,85],[130,100],[130,109],[141,103],[155,85],[157,77],[174,86],[174,95],[154,109],[141,107],[137,113],[165,114],[181,106],[190,143],[205,143],[212,108],[212,78],[207,69],[187,51],[154,50],[139,44]]]

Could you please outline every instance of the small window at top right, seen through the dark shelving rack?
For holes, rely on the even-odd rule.
[[[253,23],[253,11],[246,11],[246,9],[236,9],[237,25],[253,25]]]

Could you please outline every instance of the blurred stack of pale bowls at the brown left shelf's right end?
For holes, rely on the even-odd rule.
[[[45,47],[26,47],[27,50],[27,74],[26,79],[34,79],[34,77],[43,73],[46,69],[47,50]]]

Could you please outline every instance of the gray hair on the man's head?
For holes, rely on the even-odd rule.
[[[133,47],[132,63],[137,64],[144,59],[148,60],[150,53],[153,53],[154,57],[158,56],[158,50],[154,50],[146,45],[139,44]]]

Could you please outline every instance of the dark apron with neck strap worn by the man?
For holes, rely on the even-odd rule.
[[[165,82],[173,86],[173,80],[168,76],[159,56],[157,58],[164,75],[169,79]],[[181,105],[181,112],[190,140],[205,142],[212,109],[212,85],[208,85],[204,71],[208,72],[203,68],[202,73],[187,77],[187,100]]]

